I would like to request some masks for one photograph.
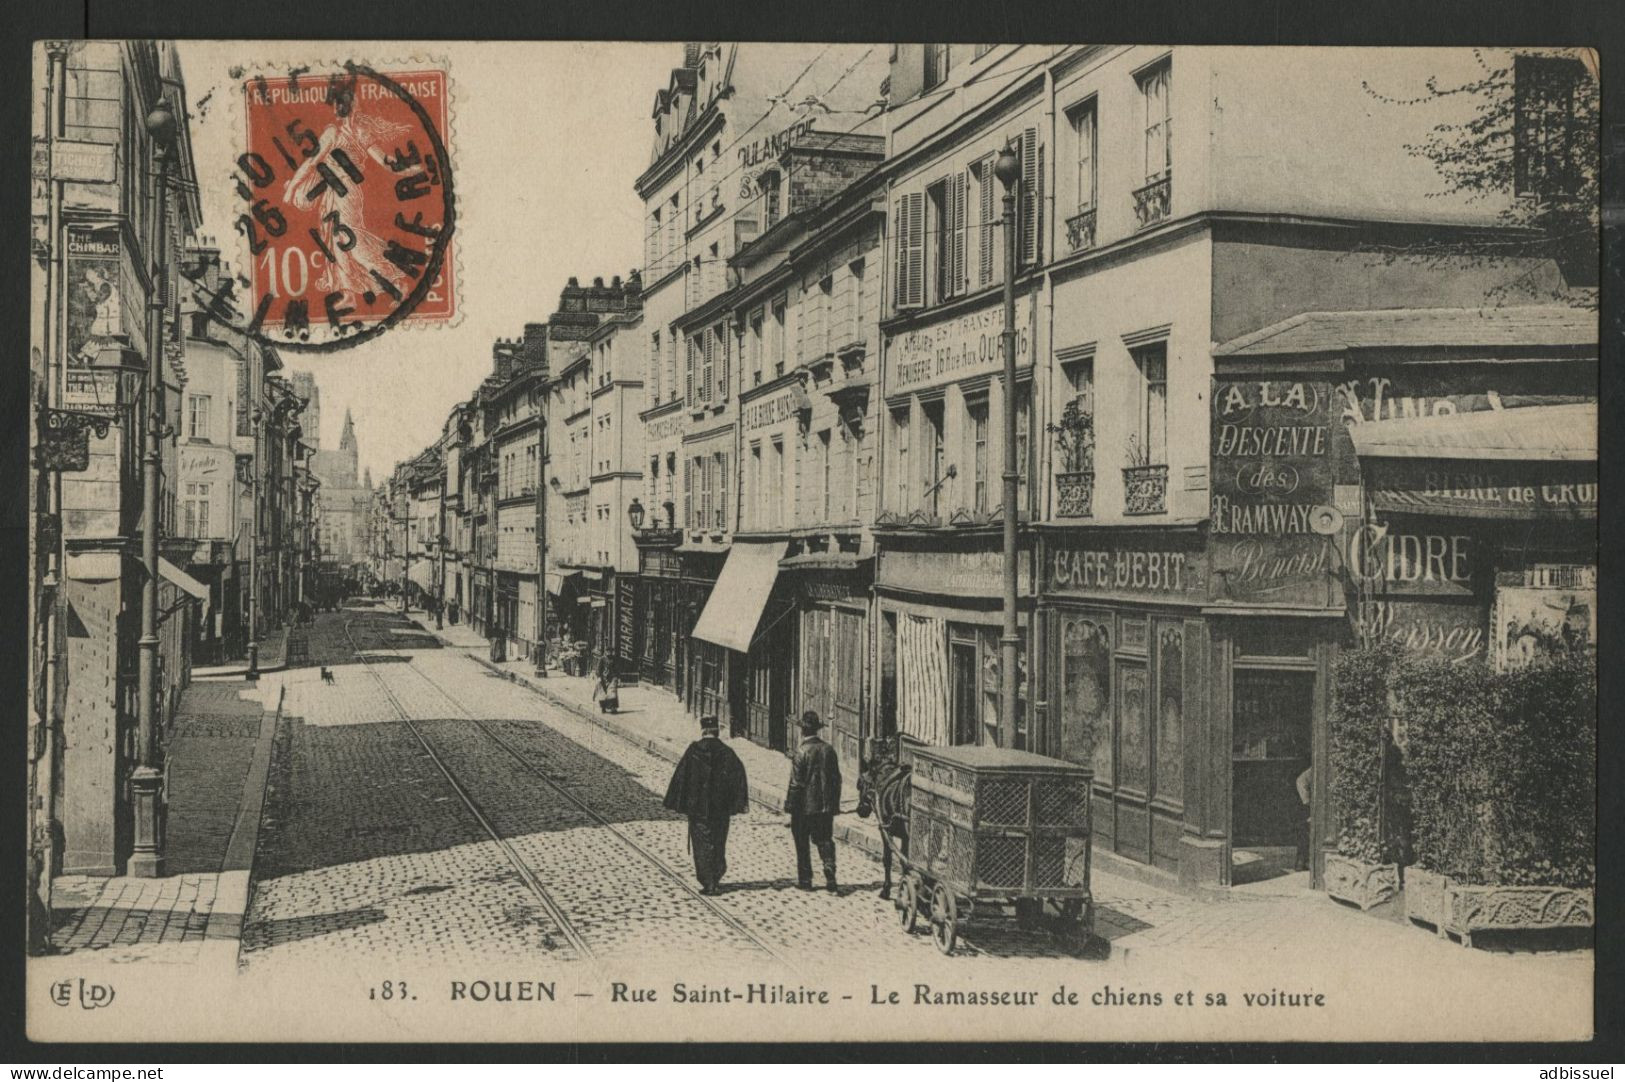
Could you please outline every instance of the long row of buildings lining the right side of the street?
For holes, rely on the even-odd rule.
[[[385,573],[494,656],[786,754],[816,710],[853,777],[1061,759],[1102,859],[1222,887],[1321,882],[1341,651],[1594,648],[1596,253],[1506,218],[1576,190],[1573,109],[1476,203],[1357,50],[829,45],[816,102],[774,94],[801,47],[673,55],[642,266],[496,343],[398,497],[455,530],[392,504]],[[1584,76],[1506,60],[1526,104]]]

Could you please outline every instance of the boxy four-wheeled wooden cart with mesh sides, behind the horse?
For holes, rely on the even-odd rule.
[[[1076,946],[1087,941],[1090,772],[1003,747],[913,747],[908,759],[904,929],[930,921],[951,954],[965,921],[1014,911],[1022,928],[1048,923]]]

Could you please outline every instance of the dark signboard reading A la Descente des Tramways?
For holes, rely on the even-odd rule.
[[[1214,385],[1214,596],[1290,606],[1334,599],[1332,387],[1320,380]]]

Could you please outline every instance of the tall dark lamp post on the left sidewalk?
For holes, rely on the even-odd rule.
[[[130,853],[132,876],[156,877],[164,874],[162,843],[158,837],[158,801],[162,773],[158,770],[158,460],[159,440],[164,434],[164,304],[169,268],[166,265],[164,224],[167,214],[169,167],[174,158],[176,114],[162,97],[146,114],[146,133],[153,140],[158,158],[158,190],[154,198],[153,231],[153,284],[146,302],[146,450],[141,457],[141,638],[138,642],[140,668],[136,690],[140,712],[136,718],[136,767],[130,775],[130,794],[135,803],[135,843]]]

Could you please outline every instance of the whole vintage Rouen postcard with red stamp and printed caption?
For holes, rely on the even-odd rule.
[[[32,1038],[1594,1032],[1592,52],[31,107]]]

